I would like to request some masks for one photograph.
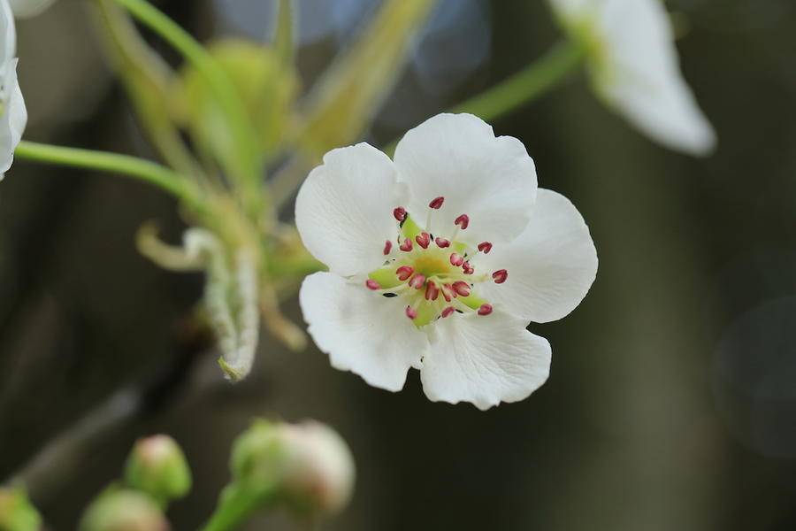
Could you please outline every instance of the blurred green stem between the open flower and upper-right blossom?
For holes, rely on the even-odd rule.
[[[471,112],[485,120],[500,118],[567,79],[581,64],[583,55],[583,49],[578,44],[559,42],[531,65],[492,89],[456,105],[450,112]]]

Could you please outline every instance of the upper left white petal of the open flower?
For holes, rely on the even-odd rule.
[[[304,246],[334,273],[368,273],[384,262],[384,243],[398,235],[393,217],[406,204],[392,161],[366,143],[331,150],[310,172],[295,202]]]

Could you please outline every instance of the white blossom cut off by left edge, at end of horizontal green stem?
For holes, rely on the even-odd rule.
[[[0,0],[0,180],[11,167],[27,124],[27,109],[17,81],[17,31],[8,0]]]

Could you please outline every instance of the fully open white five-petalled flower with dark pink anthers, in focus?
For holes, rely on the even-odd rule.
[[[300,293],[320,350],[392,391],[420,369],[433,401],[487,409],[529,396],[551,352],[525,327],[571,312],[597,270],[575,207],[537,189],[521,142],[470,114],[412,129],[394,161],[366,143],[330,151],[295,216],[329,267]]]

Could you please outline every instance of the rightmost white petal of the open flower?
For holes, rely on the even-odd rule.
[[[540,189],[524,233],[474,263],[478,273],[509,272],[502,284],[478,284],[478,296],[495,308],[545,323],[563,318],[586,296],[597,274],[597,250],[570,200]]]

